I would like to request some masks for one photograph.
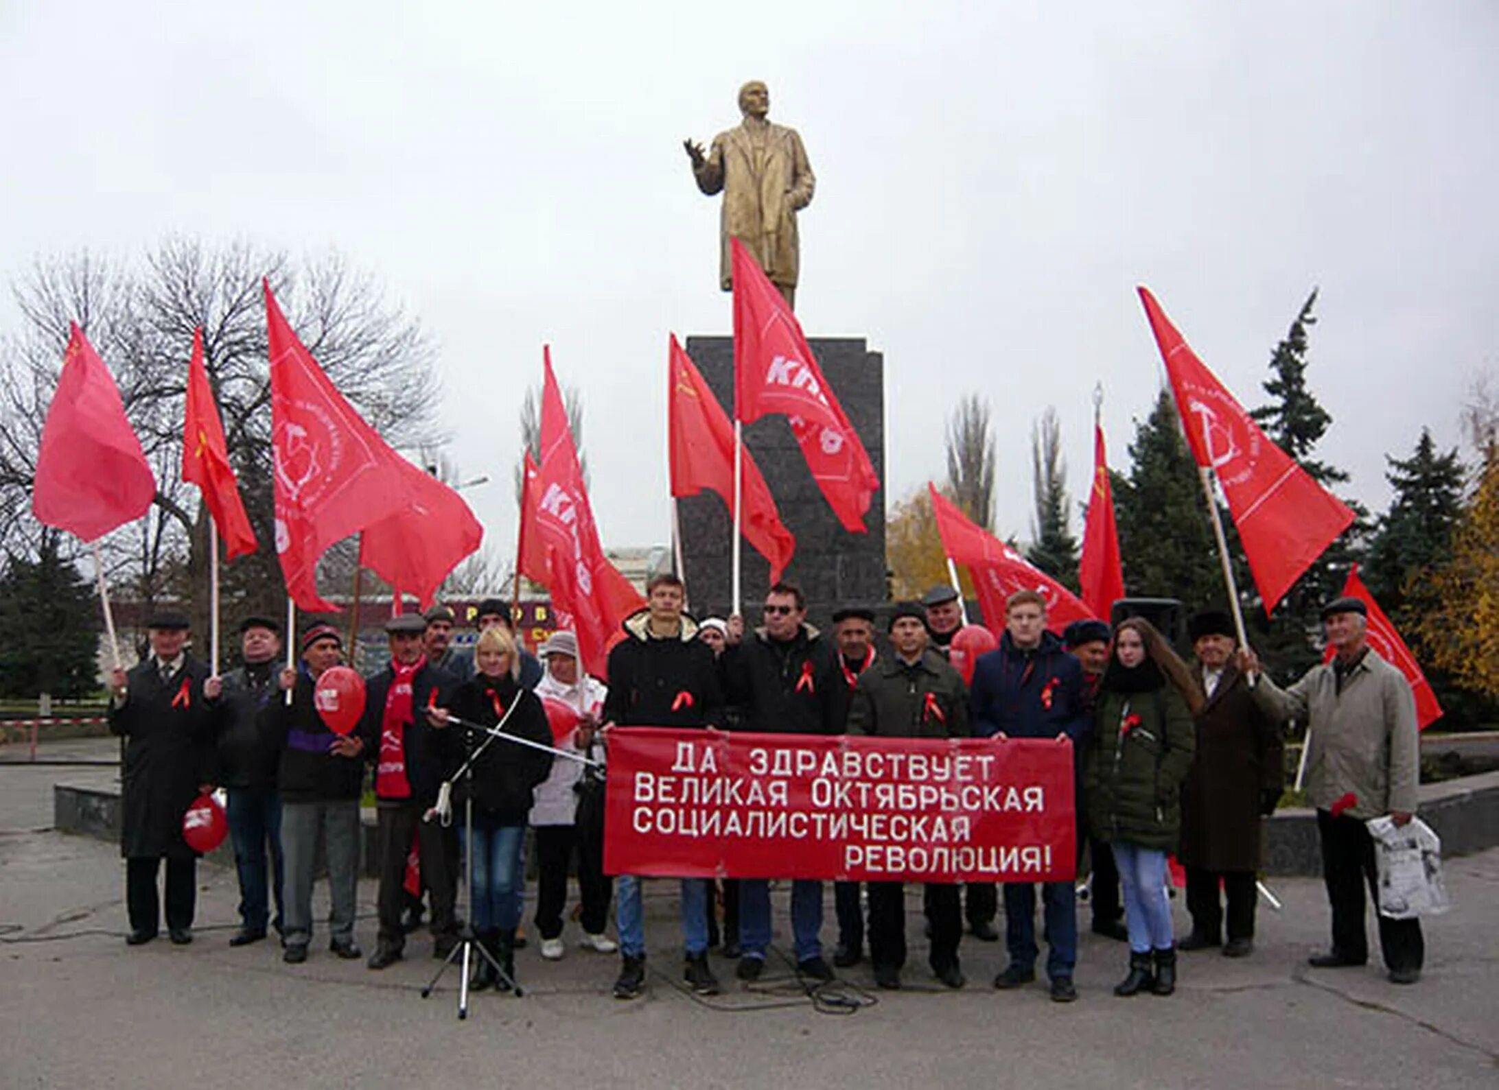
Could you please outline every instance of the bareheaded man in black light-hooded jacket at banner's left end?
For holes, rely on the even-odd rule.
[[[652,576],[648,605],[625,618],[625,639],[609,653],[604,731],[631,726],[712,726],[723,723],[718,663],[682,612],[684,587],[675,575]],[[607,738],[607,735],[606,735]],[[619,876],[618,927],[624,964],[615,999],[634,999],[646,981],[645,901],[636,874]],[[682,879],[685,979],[700,996],[718,994],[708,967],[708,880]]]

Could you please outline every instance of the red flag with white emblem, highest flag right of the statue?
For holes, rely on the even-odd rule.
[[[1286,591],[1327,551],[1354,512],[1313,481],[1250,419],[1166,319],[1156,296],[1139,289],[1181,427],[1198,466],[1223,487],[1268,615]]]

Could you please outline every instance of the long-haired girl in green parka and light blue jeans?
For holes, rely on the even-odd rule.
[[[1114,630],[1099,686],[1097,729],[1084,776],[1088,818],[1114,850],[1124,888],[1129,976],[1115,996],[1177,987],[1177,948],[1166,897],[1166,853],[1181,825],[1181,782],[1192,767],[1192,717],[1202,693],[1192,671],[1150,621]]]

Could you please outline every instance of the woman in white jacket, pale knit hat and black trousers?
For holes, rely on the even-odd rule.
[[[595,731],[607,687],[591,677],[579,678],[577,636],[571,632],[553,632],[540,654],[546,675],[537,683],[537,696],[543,704],[564,704],[579,716],[577,729],[558,738],[558,747],[576,749],[601,762],[604,747]],[[567,876],[574,852],[583,898],[582,945],[600,954],[619,949],[604,934],[613,895],[613,880],[604,876],[604,831],[577,823],[582,780],[583,765],[553,761],[552,774],[537,786],[531,807],[531,826],[537,832],[537,930],[541,933],[541,957],[549,961],[556,961],[567,949],[562,943],[562,910],[567,907]]]

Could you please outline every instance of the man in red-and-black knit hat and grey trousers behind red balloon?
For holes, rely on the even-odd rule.
[[[360,789],[364,785],[364,740],[358,731],[334,734],[316,708],[316,684],[343,662],[343,644],[331,624],[315,624],[301,636],[300,668],[282,669],[277,687],[292,701],[274,699],[261,714],[267,744],[277,753],[276,785],[282,800],[282,850],[286,856],[283,961],[307,960],[312,942],[312,885],[318,844],[328,864],[328,949],[340,958],[363,954],[354,940],[354,906],[360,864]]]

